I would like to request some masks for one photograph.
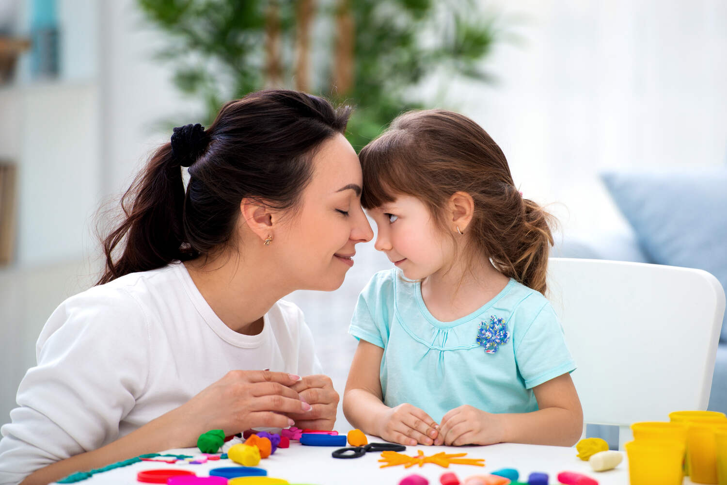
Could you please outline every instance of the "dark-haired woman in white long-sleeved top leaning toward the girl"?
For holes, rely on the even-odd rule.
[[[0,484],[194,446],[211,429],[332,429],[339,396],[300,309],[279,300],[338,288],[373,236],[348,114],[271,90],[209,129],[174,129],[121,201],[99,284],[41,332],[2,428]]]

